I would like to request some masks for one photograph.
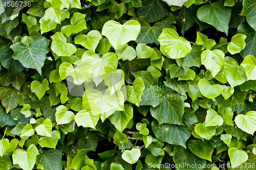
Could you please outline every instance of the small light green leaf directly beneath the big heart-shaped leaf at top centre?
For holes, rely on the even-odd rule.
[[[118,60],[122,59],[132,61],[137,56],[137,53],[132,46],[124,44],[116,49],[116,55]]]

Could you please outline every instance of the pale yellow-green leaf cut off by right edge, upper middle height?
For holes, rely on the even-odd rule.
[[[247,80],[256,80],[256,59],[252,55],[248,55],[244,58],[241,65],[245,69]]]

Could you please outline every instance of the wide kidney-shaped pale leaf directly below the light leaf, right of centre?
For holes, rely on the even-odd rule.
[[[206,98],[209,98],[209,99],[216,98],[223,91],[223,87],[220,84],[211,85],[210,82],[208,82],[208,80],[206,80],[206,79],[199,80],[198,88],[200,89],[200,92]]]

